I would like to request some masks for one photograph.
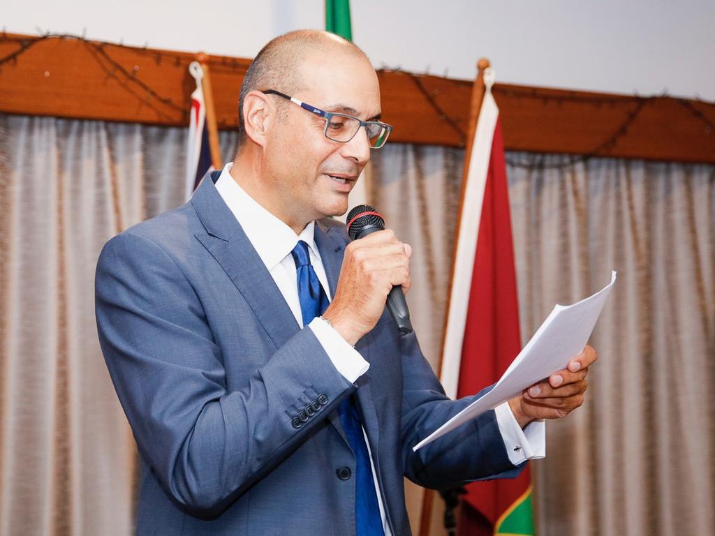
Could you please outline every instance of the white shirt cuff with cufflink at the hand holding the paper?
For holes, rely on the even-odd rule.
[[[522,430],[511,412],[509,402],[498,405],[494,412],[509,461],[513,465],[546,456],[546,422],[543,419],[530,422]]]

